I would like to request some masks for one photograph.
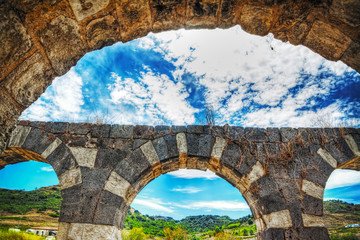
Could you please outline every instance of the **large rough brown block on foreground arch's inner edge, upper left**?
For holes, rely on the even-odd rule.
[[[58,75],[65,74],[85,53],[79,26],[73,19],[58,16],[38,35]]]

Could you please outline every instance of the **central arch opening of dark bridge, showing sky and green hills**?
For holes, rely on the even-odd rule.
[[[159,176],[134,199],[125,219],[125,232],[143,227],[143,232],[151,237],[164,237],[163,228],[176,229],[176,226],[186,224],[189,236],[211,237],[223,231],[226,235],[242,236],[244,233],[249,235],[250,230],[251,235],[256,235],[246,201],[236,188],[223,180],[209,170],[180,169]],[[139,211],[134,212],[134,209]],[[204,222],[194,225],[196,219]],[[152,228],[150,225],[157,220],[164,221],[158,223],[163,227]]]

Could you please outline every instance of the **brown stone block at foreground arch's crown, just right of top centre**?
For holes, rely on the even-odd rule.
[[[218,0],[190,1],[186,11],[186,27],[214,28],[217,24]]]

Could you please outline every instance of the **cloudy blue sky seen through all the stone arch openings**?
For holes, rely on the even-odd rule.
[[[360,75],[345,64],[327,61],[303,46],[283,43],[272,35],[250,35],[239,26],[227,30],[150,33],[86,54],[67,74],[56,78],[20,118],[71,122],[100,118],[105,123],[117,124],[189,125],[205,123],[206,107],[214,110],[218,125],[359,127]],[[31,168],[33,172],[43,167],[35,165]],[[5,177],[10,175],[7,171],[20,173],[20,164],[0,171],[0,187],[29,190],[37,184],[40,187],[40,183],[56,182],[46,177],[46,181],[31,184],[28,181],[13,187],[11,184],[20,182],[22,177],[31,180],[35,177],[28,176],[26,171],[15,181]],[[231,217],[245,214],[240,209],[244,201],[236,189],[222,179],[209,179],[201,174],[204,173],[190,174],[197,178],[161,176],[138,195],[134,207],[152,215],[161,206],[164,215],[175,218],[181,214]],[[344,176],[352,177],[341,185],[348,178]],[[340,171],[334,179],[326,198],[341,196],[360,201],[360,194],[355,194],[360,184],[358,173]],[[345,188],[349,196],[336,197]],[[219,189],[226,189],[226,194],[221,194],[223,199],[213,194]],[[185,202],[176,209],[167,209],[170,206],[167,203],[177,199]],[[156,203],[158,208],[149,203]],[[233,208],[216,209],[219,205]]]

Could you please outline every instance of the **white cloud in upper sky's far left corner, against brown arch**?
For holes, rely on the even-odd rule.
[[[28,107],[20,119],[32,121],[79,121],[84,104],[82,78],[71,68],[57,77],[41,98]]]

